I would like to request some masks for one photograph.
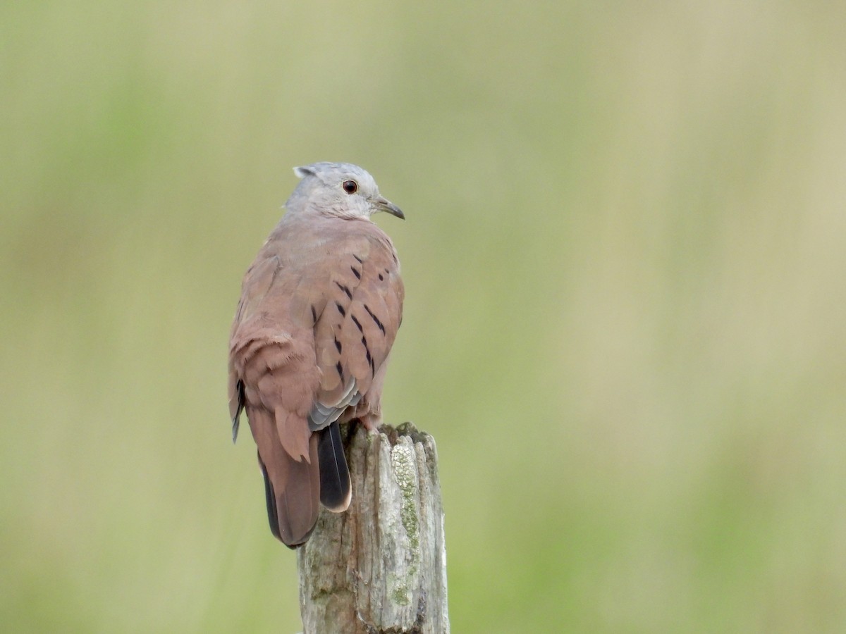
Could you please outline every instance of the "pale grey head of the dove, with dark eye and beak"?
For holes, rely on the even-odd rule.
[[[285,203],[288,213],[369,220],[376,211],[405,218],[402,210],[379,194],[373,177],[351,163],[312,163],[294,167],[302,178]]]

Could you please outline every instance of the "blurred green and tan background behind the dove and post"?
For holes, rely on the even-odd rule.
[[[298,631],[228,329],[294,188],[408,220],[455,632],[846,631],[846,5],[3,3],[4,631]]]

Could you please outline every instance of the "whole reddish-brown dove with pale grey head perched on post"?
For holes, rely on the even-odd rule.
[[[244,274],[228,363],[233,442],[245,412],[271,532],[292,549],[321,505],[349,507],[340,424],[381,424],[404,285],[397,251],[371,216],[405,218],[356,165],[318,162],[294,174],[282,220]]]

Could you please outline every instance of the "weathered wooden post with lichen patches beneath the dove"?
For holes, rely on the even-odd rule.
[[[347,445],[353,501],[297,552],[305,634],[444,634],[447,555],[435,440],[410,423]]]

